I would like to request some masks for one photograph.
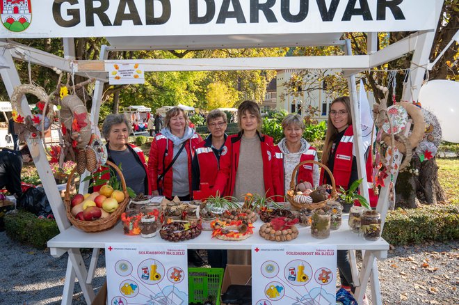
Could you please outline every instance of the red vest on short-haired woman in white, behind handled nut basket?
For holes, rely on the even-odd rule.
[[[284,154],[282,151],[280,151],[279,146],[274,146],[274,152],[275,152],[275,163],[277,168],[279,169],[279,177],[280,181],[284,182],[284,176],[285,176],[285,166],[284,166]],[[314,161],[315,157],[317,155],[316,148],[309,146],[309,148],[306,150],[305,153],[302,153],[300,156],[300,163],[303,161]],[[307,181],[311,183],[312,186],[314,186],[314,178],[312,174],[312,170],[314,169],[314,164],[303,164],[300,166],[298,171],[296,172],[296,183],[297,185],[300,180]],[[282,183],[282,189],[283,194],[287,191],[285,189],[285,183]]]

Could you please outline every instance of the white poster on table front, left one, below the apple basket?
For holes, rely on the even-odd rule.
[[[186,245],[108,244],[108,304],[188,304]]]

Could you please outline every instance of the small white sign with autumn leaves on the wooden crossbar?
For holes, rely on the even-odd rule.
[[[106,63],[105,70],[111,85],[145,83],[145,73],[138,63]]]

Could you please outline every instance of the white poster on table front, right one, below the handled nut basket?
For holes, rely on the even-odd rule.
[[[337,247],[252,246],[252,304],[335,305]]]

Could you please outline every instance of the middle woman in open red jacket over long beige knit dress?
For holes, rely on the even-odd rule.
[[[213,190],[224,196],[244,201],[247,193],[272,197],[281,195],[279,171],[274,162],[273,138],[261,134],[261,114],[256,102],[246,100],[239,105],[238,123],[241,131],[228,136],[220,156]],[[250,251],[232,251],[229,264],[250,265]]]

